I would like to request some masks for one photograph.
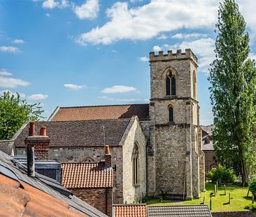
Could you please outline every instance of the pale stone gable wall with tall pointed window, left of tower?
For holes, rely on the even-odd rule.
[[[124,203],[136,203],[146,194],[146,138],[137,118],[130,121],[125,141],[121,141],[123,156],[123,195]],[[134,144],[138,144],[138,184],[133,184],[133,151]]]

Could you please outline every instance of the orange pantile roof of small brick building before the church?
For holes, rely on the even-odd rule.
[[[62,185],[66,188],[113,187],[113,168],[101,163],[62,163]]]

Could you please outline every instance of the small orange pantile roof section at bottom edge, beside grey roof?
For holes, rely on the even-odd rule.
[[[147,217],[145,204],[113,204],[113,217]]]

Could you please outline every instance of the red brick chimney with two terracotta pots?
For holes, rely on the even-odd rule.
[[[35,132],[35,122],[30,122],[29,137],[26,138],[25,145],[34,147],[34,155],[38,160],[48,160],[50,138],[46,135],[46,128],[43,126],[40,129],[40,135],[35,135]]]

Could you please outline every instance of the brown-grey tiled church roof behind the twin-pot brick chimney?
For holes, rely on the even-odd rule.
[[[117,147],[129,124],[129,119],[92,120],[92,121],[37,121],[36,130],[46,126],[50,137],[50,147],[103,147],[105,130],[106,144]],[[15,139],[15,147],[24,147],[29,135],[29,124]]]

